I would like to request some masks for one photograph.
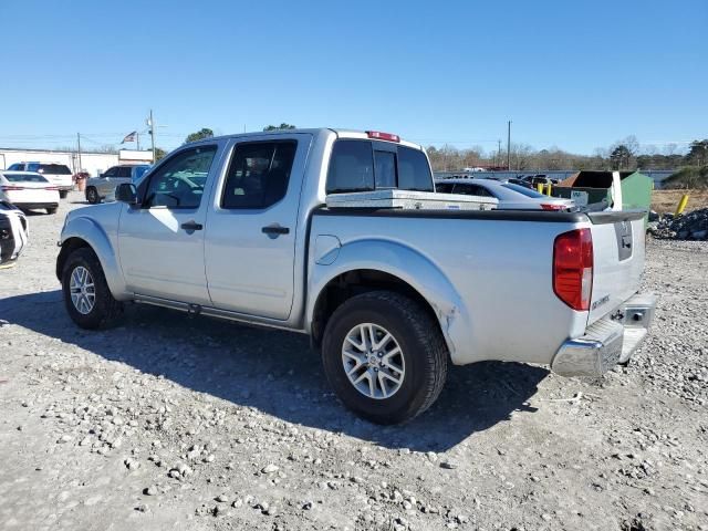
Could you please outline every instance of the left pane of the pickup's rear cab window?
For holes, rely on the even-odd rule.
[[[371,142],[336,140],[327,171],[327,194],[373,190],[374,157]]]

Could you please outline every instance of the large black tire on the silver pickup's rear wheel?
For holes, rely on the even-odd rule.
[[[379,344],[378,351],[367,354],[368,368],[357,365],[358,362],[350,357],[352,353],[358,356],[362,348],[353,346],[354,343],[347,340],[354,334],[355,343],[358,342],[361,346],[362,336],[357,335],[356,330],[365,323],[373,325],[376,341],[383,342],[384,333],[388,333],[394,342],[388,340],[382,348],[378,348]],[[364,329],[367,330],[367,326]],[[396,344],[400,354],[389,357]],[[347,354],[344,353],[345,347]],[[375,356],[379,357],[378,362]],[[382,361],[385,358],[394,360],[398,368],[384,366]],[[418,302],[391,291],[372,291],[353,296],[336,309],[324,331],[322,362],[330,385],[347,408],[372,423],[389,425],[415,418],[437,399],[447,377],[448,351],[438,323]],[[354,373],[352,379],[347,376],[350,371]],[[372,376],[378,372],[402,376],[398,378],[400,384],[396,385],[392,378],[384,377],[386,396],[382,391],[382,375],[378,375],[378,383],[374,384],[377,396],[372,397],[371,385],[375,378],[365,376],[357,384],[358,388],[353,382],[364,372]]]

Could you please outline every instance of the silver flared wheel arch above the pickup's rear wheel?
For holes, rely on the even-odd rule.
[[[322,290],[336,277],[356,270],[382,271],[406,282],[433,308],[452,361],[459,350],[462,331],[469,333],[467,308],[445,273],[427,257],[403,243],[382,239],[347,242],[332,253],[334,260],[312,262],[308,278],[306,326],[314,317]],[[329,264],[325,264],[329,263]]]

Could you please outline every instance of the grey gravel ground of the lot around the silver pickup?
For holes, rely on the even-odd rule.
[[[653,241],[654,333],[627,368],[454,367],[382,428],[344,410],[308,339],[62,305],[56,216],[0,271],[2,529],[708,530],[708,242]]]

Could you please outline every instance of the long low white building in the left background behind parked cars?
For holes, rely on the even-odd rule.
[[[14,163],[56,163],[65,164],[73,174],[80,170],[97,176],[117,164],[153,164],[153,152],[121,149],[117,154],[81,152],[81,164],[77,152],[60,152],[53,149],[21,149],[0,147],[0,169]]]

